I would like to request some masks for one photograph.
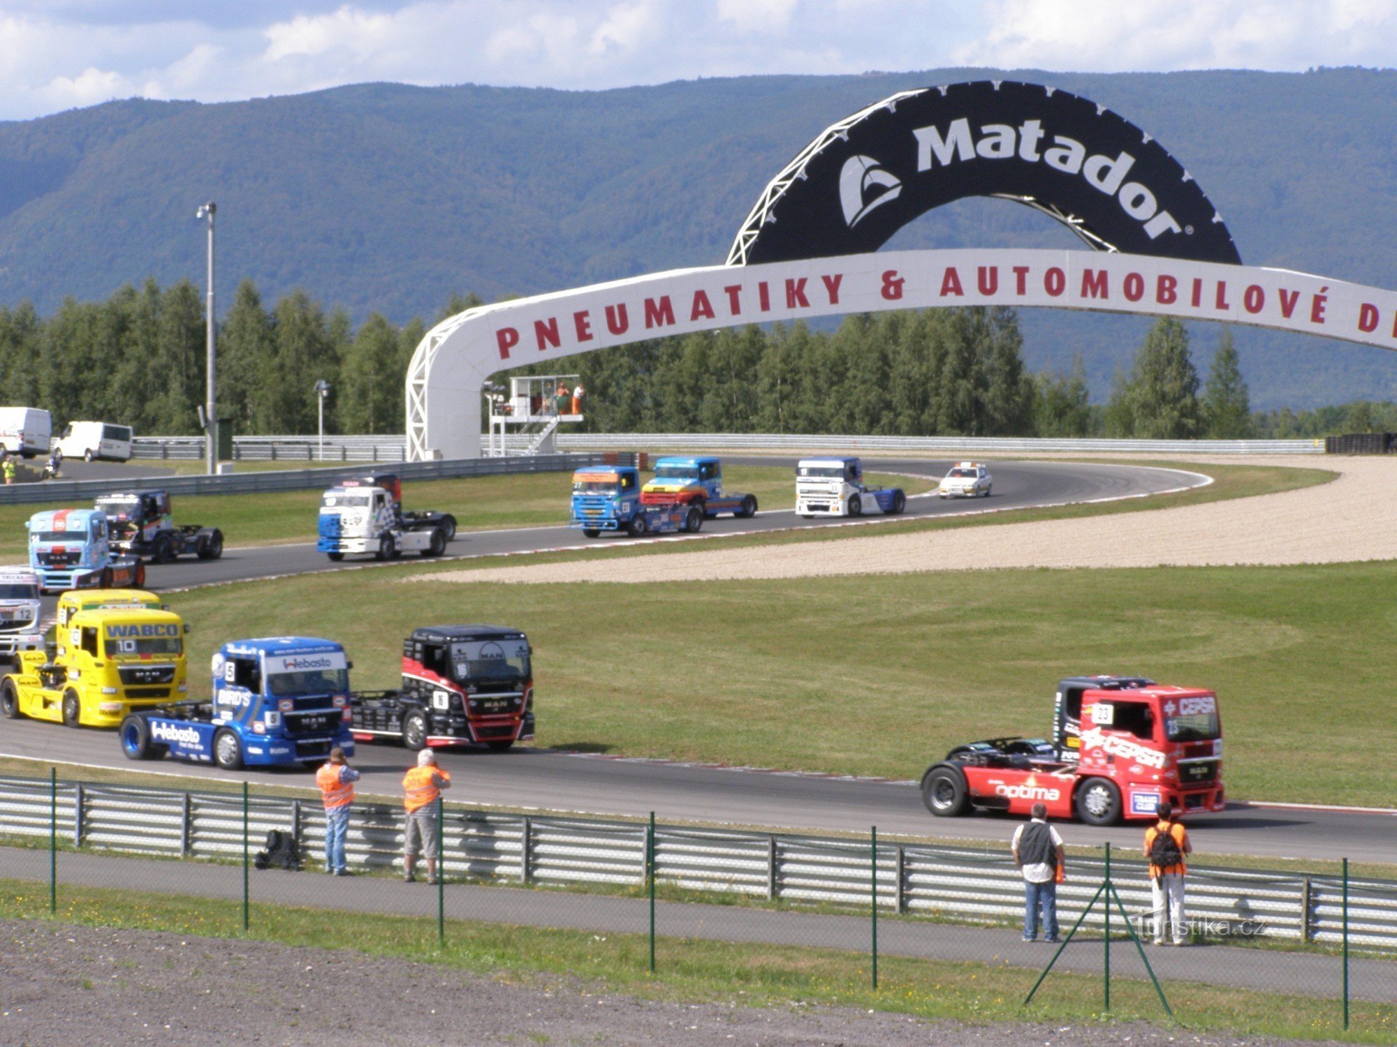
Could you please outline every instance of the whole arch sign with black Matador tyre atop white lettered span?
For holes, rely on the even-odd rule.
[[[1091,251],[880,251],[953,200],[1013,200]],[[528,363],[750,322],[944,306],[1214,320],[1397,349],[1397,292],[1246,267],[1148,134],[1030,84],[908,91],[833,124],[766,187],[728,261],[481,306],[408,367],[408,456],[481,454],[485,385]]]

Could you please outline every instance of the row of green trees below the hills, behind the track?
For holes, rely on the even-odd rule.
[[[437,318],[479,304],[453,296]],[[402,433],[402,381],[427,322],[401,327],[305,292],[264,303],[250,281],[218,325],[219,413],[237,434],[316,430],[314,383],[331,385],[331,433]],[[204,302],[182,281],[147,281],[106,302],[66,299],[50,317],[0,307],[7,403],[57,424],[101,419],[138,434],[198,431]],[[750,325],[604,349],[517,373],[564,370],[585,385],[599,433],[731,431],[886,436],[1313,437],[1397,429],[1397,405],[1358,402],[1253,413],[1225,328],[1200,381],[1185,327],[1157,321],[1111,396],[1092,403],[1077,359],[1030,374],[1010,309],[845,317],[833,331]],[[500,380],[509,373],[499,376]]]

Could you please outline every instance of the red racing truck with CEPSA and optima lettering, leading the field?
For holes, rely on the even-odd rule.
[[[972,808],[1090,825],[1221,811],[1222,725],[1213,691],[1141,677],[1071,677],[1058,687],[1055,738],[986,738],[957,745],[922,775],[922,800],[942,818]]]

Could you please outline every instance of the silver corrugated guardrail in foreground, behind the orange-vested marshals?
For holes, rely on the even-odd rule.
[[[0,778],[0,835],[49,836],[49,782]],[[74,846],[186,859],[239,857],[242,797],[113,785],[63,783],[57,831]],[[249,833],[260,846],[272,829],[291,832],[303,853],[324,847],[317,800],[254,797]],[[645,882],[644,824],[622,819],[531,817],[447,807],[443,847],[454,868],[472,879],[502,884]],[[391,871],[401,866],[402,810],[356,803],[345,853],[352,867]],[[655,875],[697,891],[791,902],[868,906],[872,847],[837,836],[736,832],[657,825]],[[1133,917],[1151,907],[1146,867],[1113,860],[1116,889]],[[979,852],[930,843],[880,842],[879,900],[894,913],[964,923],[1023,919],[1023,879],[1007,847]],[[1091,902],[1102,864],[1073,859],[1058,907],[1069,926]],[[1080,884],[1080,885],[1078,885]],[[1206,868],[1189,870],[1189,917],[1228,937],[1337,942],[1343,884],[1337,877]],[[1099,921],[1099,910],[1087,924]],[[1348,881],[1348,940],[1397,952],[1397,881]]]

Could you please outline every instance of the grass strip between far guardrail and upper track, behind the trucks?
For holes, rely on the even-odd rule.
[[[373,472],[373,466],[365,463],[363,470]],[[732,490],[756,494],[763,508],[795,507],[795,477],[791,469],[733,466],[726,470],[725,479]],[[880,473],[870,475],[869,483],[894,484],[908,494],[928,491],[935,486],[932,480]],[[158,487],[159,479],[134,482],[131,486]],[[405,483],[402,487],[407,508],[455,514],[462,530],[566,524],[570,496],[571,475],[566,472],[427,480]],[[49,508],[61,505],[0,507],[0,557],[22,557],[25,522],[34,512]],[[314,542],[319,508],[319,490],[176,497],[175,522],[222,528],[231,547]]]

